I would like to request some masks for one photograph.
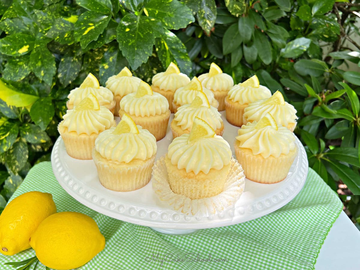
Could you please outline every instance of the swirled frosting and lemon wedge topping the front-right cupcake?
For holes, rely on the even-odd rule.
[[[258,122],[242,125],[236,137],[239,147],[248,148],[253,155],[262,157],[280,157],[289,154],[295,148],[293,132],[284,126],[278,126],[270,113],[266,113]]]

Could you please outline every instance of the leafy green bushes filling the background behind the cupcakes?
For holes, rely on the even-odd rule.
[[[309,165],[360,219],[360,66],[355,15],[334,0],[0,0],[0,211],[50,159],[69,91],[128,66],[145,81],[171,61],[190,76],[216,62],[236,83],[256,74],[300,117]],[[345,41],[351,43],[346,48]],[[323,54],[324,46],[331,53]],[[355,51],[354,51],[355,50]],[[345,66],[346,69],[346,66]],[[349,191],[350,189],[350,191]],[[341,195],[345,194],[345,195]]]

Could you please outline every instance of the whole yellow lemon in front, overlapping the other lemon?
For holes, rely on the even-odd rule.
[[[59,212],[47,217],[31,235],[39,261],[53,269],[80,267],[105,247],[105,237],[89,216]]]

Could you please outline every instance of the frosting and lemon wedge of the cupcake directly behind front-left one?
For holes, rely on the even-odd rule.
[[[150,85],[141,81],[136,93],[124,96],[120,109],[135,116],[154,116],[168,111],[169,103],[165,96],[153,92]]]

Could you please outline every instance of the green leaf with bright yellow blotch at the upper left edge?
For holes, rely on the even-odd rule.
[[[29,53],[35,44],[31,35],[17,33],[0,39],[0,53],[10,56],[20,56]]]

